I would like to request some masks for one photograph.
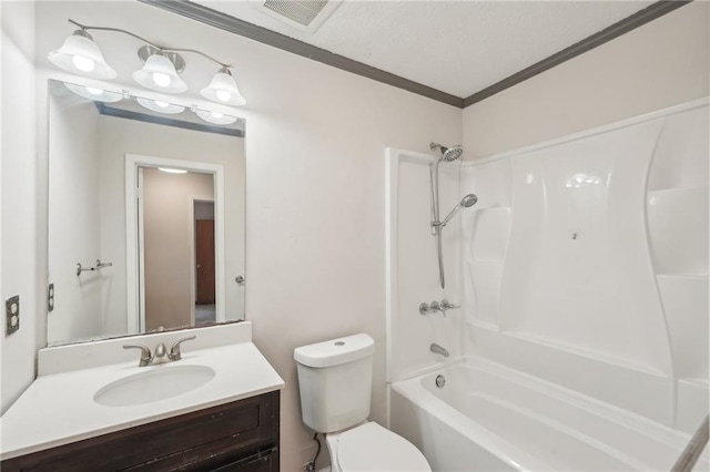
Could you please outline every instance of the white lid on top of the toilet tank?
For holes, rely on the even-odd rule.
[[[352,362],[372,356],[373,352],[375,341],[361,334],[302,346],[293,351],[293,358],[301,365],[318,368]]]

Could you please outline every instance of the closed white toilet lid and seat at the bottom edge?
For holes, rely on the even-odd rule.
[[[337,462],[344,472],[430,472],[424,454],[409,441],[367,422],[337,434]]]

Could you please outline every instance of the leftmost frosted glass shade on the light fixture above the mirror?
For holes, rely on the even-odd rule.
[[[47,55],[52,64],[65,71],[92,79],[115,79],[115,71],[103,60],[91,35],[79,30],[67,38],[62,47]]]

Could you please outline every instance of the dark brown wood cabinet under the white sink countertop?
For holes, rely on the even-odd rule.
[[[8,471],[278,470],[280,392],[9,459]]]

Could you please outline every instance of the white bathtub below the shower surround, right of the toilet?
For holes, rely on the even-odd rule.
[[[434,471],[669,471],[690,440],[481,358],[395,382],[389,393],[390,429]],[[694,470],[708,470],[704,452]]]

